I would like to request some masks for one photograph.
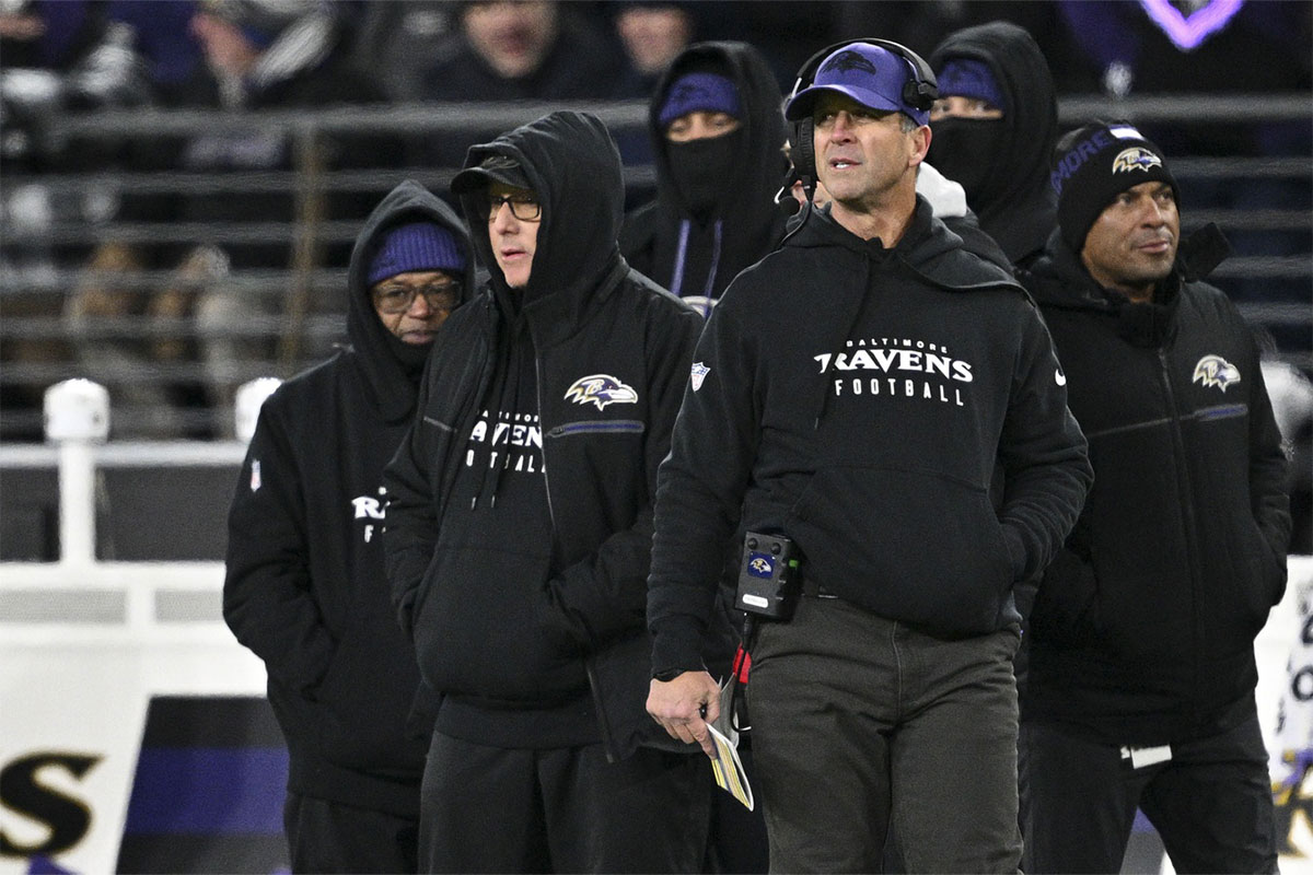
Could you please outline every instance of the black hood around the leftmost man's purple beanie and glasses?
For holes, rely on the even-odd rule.
[[[474,258],[469,257],[470,235],[456,210],[412,180],[406,180],[389,192],[365,219],[365,227],[356,235],[347,272],[347,336],[389,422],[411,415],[418,386],[411,369],[407,369],[394,349],[394,344],[400,341],[383,327],[374,311],[365,279],[382,234],[397,224],[423,220],[442,226],[461,241],[466,253],[461,303],[469,300],[474,289]]]

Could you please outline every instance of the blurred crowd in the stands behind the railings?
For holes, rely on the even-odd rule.
[[[314,269],[344,269],[352,228],[379,195],[349,188],[318,195],[286,186],[252,189],[251,174],[303,169],[307,159],[293,131],[234,121],[249,110],[646,101],[683,49],[709,39],[755,46],[788,93],[798,64],[831,42],[871,34],[928,55],[949,33],[995,20],[1035,38],[1060,98],[1309,92],[1313,7],[1222,4],[1225,16],[1215,10],[1205,20],[1191,12],[1195,5],[821,1],[800,16],[786,3],[678,0],[5,3],[0,314],[49,317],[59,328],[41,337],[5,332],[0,367],[72,359],[95,378],[172,366],[167,379],[112,382],[116,405],[150,412],[119,421],[116,436],[228,434],[230,418],[210,412],[227,409],[246,376],[235,362],[269,358],[270,349],[289,344],[289,324],[332,312],[309,281],[291,287],[278,272],[305,277]],[[152,138],[49,135],[51,121],[64,114],[134,108],[223,112],[230,123]],[[1313,152],[1308,118],[1145,130],[1175,155]],[[316,143],[314,160],[327,172],[454,168],[469,144],[496,132],[470,126],[458,135],[334,134]],[[653,161],[646,131],[614,135],[626,168]],[[47,177],[108,172],[135,174],[139,184],[118,190],[42,185]],[[165,178],[152,174],[164,173],[185,174],[192,184],[150,184]],[[1204,180],[1186,193],[1187,201],[1205,197],[1222,209],[1309,207],[1306,180]],[[289,230],[294,220],[322,228],[340,222],[348,230],[306,241]],[[252,222],[260,224],[244,224]],[[51,232],[70,224],[85,226],[85,232]],[[1232,236],[1238,249],[1254,254],[1309,248],[1308,227]],[[278,279],[261,285],[261,272]],[[1263,294],[1254,282],[1228,291]],[[289,321],[289,314],[301,321]],[[1306,338],[1278,333],[1276,342],[1299,346]],[[41,439],[38,420],[14,416],[39,409],[39,395],[30,382],[0,379],[0,437]]]

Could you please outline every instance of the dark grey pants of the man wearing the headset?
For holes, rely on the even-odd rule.
[[[763,626],[747,697],[771,871],[897,855],[909,872],[1016,872],[1016,644],[937,639],[838,598]]]

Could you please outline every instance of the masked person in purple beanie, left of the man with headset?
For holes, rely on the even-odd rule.
[[[784,232],[779,83],[747,43],[696,43],[656,84],[649,132],[656,199],[626,216],[621,253],[705,312]]]

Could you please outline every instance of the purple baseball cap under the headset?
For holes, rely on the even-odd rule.
[[[811,84],[784,108],[784,117],[790,122],[806,118],[817,98],[832,92],[869,109],[907,113],[918,125],[927,125],[930,110],[903,100],[903,85],[914,77],[906,58],[869,42],[848,43],[821,62]]]

